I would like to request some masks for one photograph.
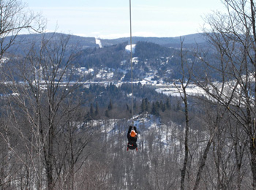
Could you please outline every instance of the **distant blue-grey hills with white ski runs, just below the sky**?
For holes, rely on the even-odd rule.
[[[45,39],[57,42],[62,36],[67,37],[67,34],[44,34]],[[206,45],[203,35],[191,34],[181,38],[184,39],[184,47],[186,47],[184,50],[187,63],[192,63],[195,59],[192,56],[195,45]],[[9,53],[23,56],[32,43],[39,48],[41,39],[41,34],[19,35]],[[72,53],[74,48],[79,52],[72,63],[77,68],[77,72],[73,73],[75,78],[86,75],[86,80],[91,81],[108,80],[113,83],[129,81],[130,55],[126,50],[129,38],[99,40],[102,47],[99,47],[94,37],[70,36],[67,55]],[[181,46],[180,37],[132,37],[132,43],[136,44],[133,53],[133,79],[146,80],[147,83],[172,83],[173,80],[181,77],[181,53],[178,48]]]

